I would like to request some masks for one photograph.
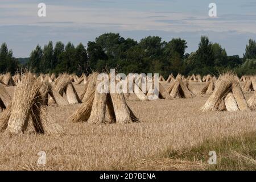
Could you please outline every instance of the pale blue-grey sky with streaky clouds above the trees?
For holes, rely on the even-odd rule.
[[[217,17],[210,17],[210,3]],[[46,17],[38,4],[46,4]],[[71,41],[85,46],[105,32],[141,40],[160,36],[187,40],[196,51],[201,35],[220,43],[228,55],[243,55],[248,40],[256,40],[255,0],[0,0],[0,43],[15,57],[28,57],[37,44]]]

